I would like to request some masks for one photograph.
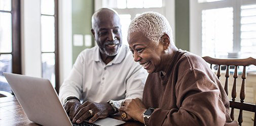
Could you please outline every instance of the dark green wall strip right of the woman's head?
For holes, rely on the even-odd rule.
[[[189,51],[189,0],[175,0],[175,45]]]

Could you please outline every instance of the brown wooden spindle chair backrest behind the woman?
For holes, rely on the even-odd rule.
[[[229,95],[228,93],[228,79],[230,76],[230,66],[235,66],[235,70],[234,70],[234,83],[233,83],[233,87],[232,87],[232,92],[231,92],[231,96],[232,96],[232,100],[230,100],[230,107],[231,107],[231,113],[230,116],[231,118],[234,120],[234,108],[239,109],[239,116],[238,116],[238,123],[239,125],[242,125],[243,122],[243,110],[245,111],[250,111],[250,112],[254,112],[254,126],[256,125],[256,105],[255,104],[250,104],[250,103],[245,103],[244,102],[244,98],[245,98],[245,79],[246,79],[246,67],[249,65],[254,65],[256,66],[256,59],[249,57],[249,58],[243,58],[243,59],[220,59],[220,58],[212,58],[209,56],[205,56],[203,57],[203,59],[208,62],[210,64],[210,68],[212,69],[212,65],[217,65],[218,69],[217,69],[217,73],[216,76],[218,77],[218,79],[220,79],[221,76],[221,66],[227,66],[226,68],[226,81],[225,81],[225,86],[224,89],[227,93],[227,95]],[[243,72],[241,75],[242,78],[242,84],[241,84],[241,90],[240,90],[240,102],[236,101],[236,85],[237,85],[237,78],[238,78],[238,66],[242,66],[243,67]]]

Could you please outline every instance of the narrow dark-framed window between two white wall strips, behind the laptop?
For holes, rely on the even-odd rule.
[[[42,77],[59,89],[57,0],[41,0]]]

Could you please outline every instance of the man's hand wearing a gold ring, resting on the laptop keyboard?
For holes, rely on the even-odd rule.
[[[91,112],[89,111],[91,110]],[[114,109],[109,103],[95,103],[92,101],[86,101],[78,107],[74,114],[73,122],[81,123],[88,117],[91,117],[89,122],[93,123],[98,118],[105,118],[109,114],[113,114]]]

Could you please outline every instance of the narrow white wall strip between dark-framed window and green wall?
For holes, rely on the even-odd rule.
[[[59,73],[60,85],[72,68],[72,1],[59,1]]]

